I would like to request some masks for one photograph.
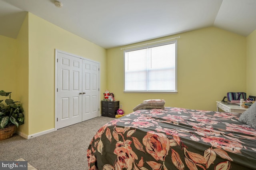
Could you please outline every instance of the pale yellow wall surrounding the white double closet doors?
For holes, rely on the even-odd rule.
[[[100,88],[106,88],[106,49],[28,13],[29,134],[54,128],[55,49],[100,63]]]

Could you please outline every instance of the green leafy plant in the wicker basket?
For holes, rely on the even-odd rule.
[[[12,92],[0,91],[0,96],[8,96],[9,99],[5,99],[5,104],[2,103],[4,100],[0,100],[0,128],[4,128],[10,125],[24,124],[23,109],[19,101],[13,101],[11,99]],[[18,103],[18,104],[16,104]]]

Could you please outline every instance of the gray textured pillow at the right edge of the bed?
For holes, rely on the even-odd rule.
[[[239,121],[256,128],[256,102],[239,117]]]

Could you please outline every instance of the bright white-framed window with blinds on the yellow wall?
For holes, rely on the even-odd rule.
[[[124,91],[176,92],[177,41],[124,51]]]

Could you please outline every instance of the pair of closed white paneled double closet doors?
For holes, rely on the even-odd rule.
[[[100,64],[58,50],[56,58],[55,129],[98,117]]]

